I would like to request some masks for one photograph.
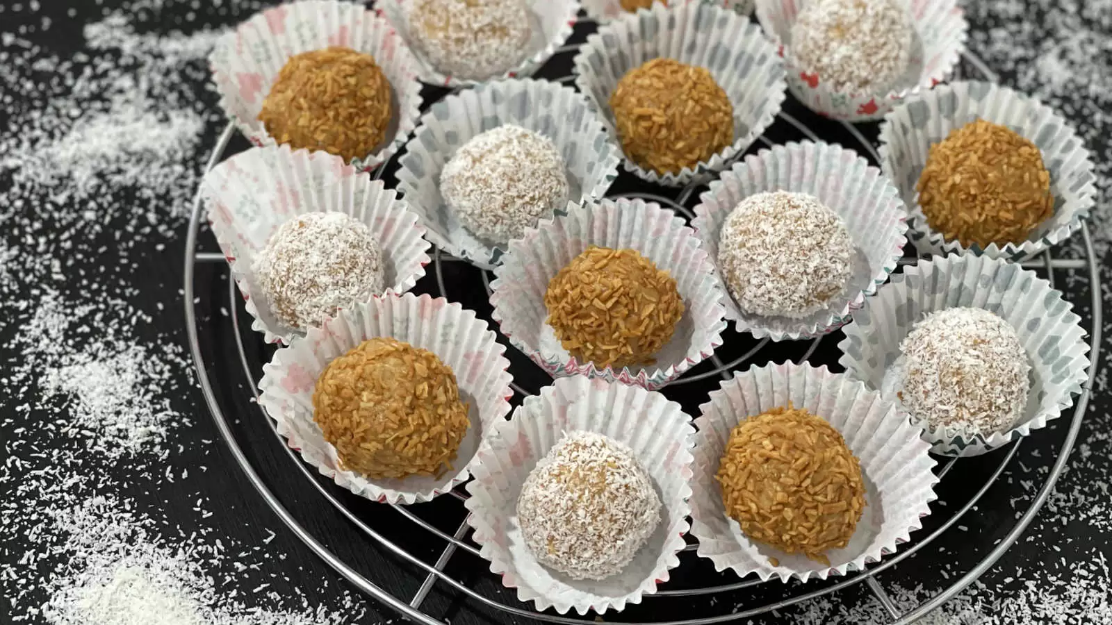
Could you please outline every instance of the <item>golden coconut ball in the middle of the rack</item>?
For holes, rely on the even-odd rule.
[[[676,280],[632,249],[590,246],[548,282],[547,323],[580,363],[652,364],[684,315]]]

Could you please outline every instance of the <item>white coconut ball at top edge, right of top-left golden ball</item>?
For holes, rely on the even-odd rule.
[[[407,18],[414,47],[437,71],[463,80],[514,69],[533,33],[523,0],[415,0]]]

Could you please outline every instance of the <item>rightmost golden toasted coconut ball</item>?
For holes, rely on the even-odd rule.
[[[963,246],[1023,242],[1054,212],[1039,148],[983,119],[931,146],[915,189],[927,225]]]

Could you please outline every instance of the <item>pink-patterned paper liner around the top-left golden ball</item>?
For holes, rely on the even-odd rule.
[[[279,4],[221,37],[209,57],[220,108],[252,143],[275,145],[258,119],[270,87],[290,57],[329,46],[370,54],[390,82],[394,119],[387,138],[371,153],[351,160],[359,169],[374,169],[398,151],[417,125],[420,82],[417,62],[401,38],[361,4],[336,0]]]

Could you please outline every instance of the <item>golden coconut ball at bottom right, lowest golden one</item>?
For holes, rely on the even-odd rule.
[[[734,427],[716,476],[742,532],[830,566],[865,508],[861,466],[842,435],[806,410],[773,408]]]

